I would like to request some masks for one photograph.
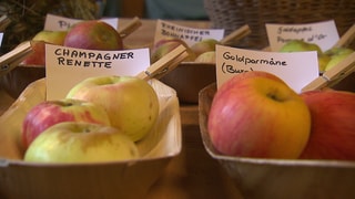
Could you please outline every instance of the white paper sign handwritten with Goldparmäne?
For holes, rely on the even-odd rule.
[[[216,83],[220,87],[233,75],[248,71],[275,74],[295,92],[318,77],[316,51],[280,53],[216,45]]]

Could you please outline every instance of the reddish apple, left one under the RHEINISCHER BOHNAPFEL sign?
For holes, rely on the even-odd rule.
[[[186,48],[186,52],[189,53],[186,61],[195,60],[196,55],[191,51],[186,42],[178,38],[164,38],[156,41],[154,46],[151,49],[151,63],[156,62],[179,45],[184,45]]]

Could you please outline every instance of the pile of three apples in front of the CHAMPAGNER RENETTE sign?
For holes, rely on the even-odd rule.
[[[140,157],[159,116],[154,88],[134,76],[89,77],[63,100],[32,107],[22,124],[24,161],[98,163]]]

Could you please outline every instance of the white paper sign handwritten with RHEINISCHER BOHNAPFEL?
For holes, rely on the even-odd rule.
[[[203,39],[215,39],[217,41],[224,38],[223,29],[194,29],[166,22],[163,20],[156,21],[154,43],[159,40],[171,36],[178,38],[186,42],[189,46],[200,42]]]

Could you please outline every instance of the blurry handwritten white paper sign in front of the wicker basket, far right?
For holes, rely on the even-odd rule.
[[[275,52],[295,39],[316,43],[322,51],[329,50],[339,40],[334,20],[304,24],[266,23],[266,32],[270,48]]]

